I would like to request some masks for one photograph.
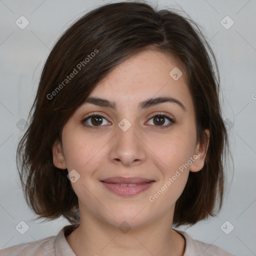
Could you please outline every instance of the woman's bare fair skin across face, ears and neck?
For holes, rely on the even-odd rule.
[[[53,163],[80,177],[71,182],[78,197],[80,225],[66,240],[79,255],[183,255],[185,240],[172,228],[174,205],[181,195],[189,171],[203,167],[207,145],[196,141],[195,113],[185,74],[174,80],[169,72],[175,66],[170,56],[145,50],[113,69],[90,93],[116,103],[116,109],[85,103],[65,123],[62,145],[52,146]],[[155,96],[171,96],[185,106],[164,102],[137,110],[138,103]],[[102,115],[81,119],[89,113]],[[157,124],[153,114],[166,114]],[[126,118],[131,126],[123,131],[118,123]],[[208,130],[205,132],[209,135]],[[199,151],[189,168],[168,186],[154,202],[154,195],[179,166]],[[62,162],[62,165],[61,165]],[[113,176],[150,178],[155,182],[145,191],[130,197],[109,191],[99,180]],[[131,229],[123,233],[118,226],[126,221]]]

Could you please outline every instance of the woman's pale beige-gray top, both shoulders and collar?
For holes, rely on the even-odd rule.
[[[37,241],[25,242],[0,250],[0,256],[75,256],[69,246],[65,235],[71,233],[79,224],[64,226],[57,235],[49,236]],[[192,239],[186,232],[173,229],[185,239],[185,252],[183,256],[235,256],[227,253],[219,247]],[[100,251],[98,252],[100,255]],[[95,251],[95,255],[97,252]]]

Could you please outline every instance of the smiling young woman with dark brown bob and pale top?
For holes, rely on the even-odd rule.
[[[17,149],[29,207],[70,225],[0,255],[232,255],[172,228],[222,205],[218,90],[192,20],[135,1],[82,16],[46,60]]]

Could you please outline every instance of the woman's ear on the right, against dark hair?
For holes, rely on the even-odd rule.
[[[206,134],[207,139],[206,139],[206,142],[204,143],[200,143],[198,141],[198,143],[195,146],[195,150],[192,156],[193,161],[189,169],[192,172],[201,170],[204,165],[204,160],[205,160],[206,152],[208,149],[209,137],[210,137],[210,133],[208,129],[205,129],[204,132]]]

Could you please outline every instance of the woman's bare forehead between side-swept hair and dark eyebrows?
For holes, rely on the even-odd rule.
[[[176,78],[173,72],[177,71],[182,75],[173,79]],[[192,99],[180,62],[165,53],[144,50],[116,66],[96,85],[89,97],[107,98],[116,102],[117,107],[123,107],[122,104],[127,102],[137,104],[159,95],[174,97],[186,108],[191,108]]]

